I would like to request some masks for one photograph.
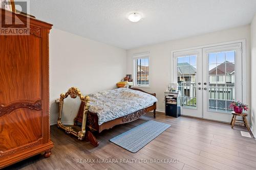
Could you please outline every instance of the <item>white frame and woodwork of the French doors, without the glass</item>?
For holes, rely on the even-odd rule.
[[[172,74],[172,82],[177,83],[177,58],[178,57],[185,57],[196,55],[197,56],[197,64],[196,64],[196,107],[182,107],[181,114],[188,115],[188,116],[195,116],[205,119],[213,119],[218,120],[221,122],[229,122],[230,121],[230,113],[229,110],[225,110],[224,112],[209,110],[209,92],[208,92],[208,83],[209,83],[209,54],[210,53],[225,53],[225,52],[234,52],[236,55],[236,61],[233,61],[234,65],[236,66],[234,72],[236,73],[236,78],[233,81],[236,86],[236,90],[234,94],[236,94],[236,99],[244,103],[246,103],[245,92],[246,92],[246,80],[245,80],[245,68],[246,68],[246,40],[237,40],[237,41],[230,41],[230,42],[223,42],[211,45],[202,45],[197,47],[186,48],[182,50],[174,50],[172,51],[172,65],[173,65],[173,74]],[[226,59],[226,58],[225,58]],[[224,61],[226,63],[226,61]],[[216,62],[217,66],[220,65]],[[230,65],[230,63],[228,63]],[[225,65],[228,65],[225,64]],[[212,64],[213,65],[213,64]],[[180,68],[179,68],[180,69]],[[226,67],[225,67],[226,69]],[[216,72],[217,74],[217,72]],[[226,74],[226,73],[225,73]],[[228,73],[230,74],[230,73]],[[216,81],[221,81],[222,78],[220,75],[216,75]],[[220,79],[220,80],[219,80]],[[226,80],[226,75],[225,75]],[[179,80],[180,81],[180,80]],[[212,81],[212,80],[211,80]],[[191,82],[190,82],[191,83]],[[220,83],[220,82],[219,82]],[[225,83],[224,83],[225,84]],[[218,86],[218,83],[217,83]],[[230,86],[228,86],[229,88]],[[190,87],[189,87],[190,88]],[[205,90],[206,88],[206,90]],[[225,88],[222,88],[222,93],[227,95],[228,89],[227,85]],[[217,88],[216,88],[217,89]],[[226,91],[225,91],[226,90]],[[229,88],[230,92],[230,88]],[[244,95],[243,95],[244,94]],[[195,94],[194,94],[195,95]],[[229,96],[230,97],[230,96]],[[225,99],[228,99],[225,96]],[[230,100],[230,99],[229,99]],[[218,101],[217,101],[218,102]],[[225,101],[226,102],[226,101]],[[217,107],[217,106],[216,106]],[[227,107],[227,106],[226,106]]]

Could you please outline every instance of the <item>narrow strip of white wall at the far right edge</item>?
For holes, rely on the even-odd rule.
[[[251,131],[256,137],[256,14],[251,22]]]

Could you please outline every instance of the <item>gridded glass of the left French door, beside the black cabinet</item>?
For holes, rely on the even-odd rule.
[[[197,107],[197,56],[177,58],[177,81],[181,91],[181,106]]]

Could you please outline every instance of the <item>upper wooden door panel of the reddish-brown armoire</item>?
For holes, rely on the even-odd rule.
[[[41,99],[40,44],[36,36],[0,36],[1,105]]]

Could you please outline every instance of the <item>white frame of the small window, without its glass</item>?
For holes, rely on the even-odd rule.
[[[148,84],[137,84],[137,59],[148,59]],[[151,83],[151,62],[150,62],[150,52],[133,54],[133,77],[134,77],[134,87],[150,88]]]

